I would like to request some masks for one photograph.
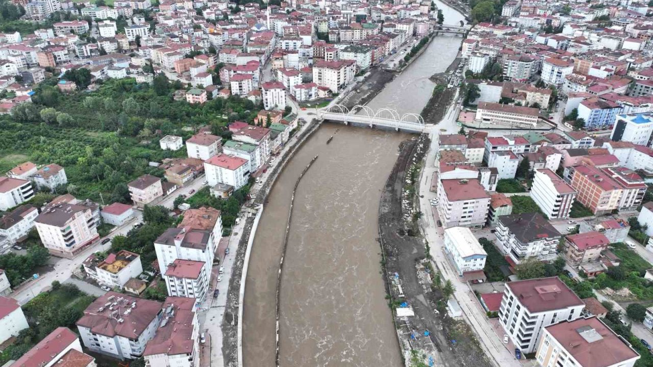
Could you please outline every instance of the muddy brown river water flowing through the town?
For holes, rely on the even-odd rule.
[[[462,16],[436,0],[445,24]],[[368,105],[418,113],[458,52],[461,38],[438,36]],[[330,144],[329,136],[335,135]],[[243,309],[245,367],[274,367],[276,282],[291,193],[304,167],[281,278],[279,349],[282,366],[402,364],[385,300],[378,237],[381,189],[404,133],[324,124],[289,161],[259,222]]]

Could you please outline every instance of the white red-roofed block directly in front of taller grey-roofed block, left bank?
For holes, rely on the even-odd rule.
[[[202,261],[173,261],[163,274],[168,295],[197,298],[197,302],[204,302],[208,293],[208,279],[204,267],[205,263]]]

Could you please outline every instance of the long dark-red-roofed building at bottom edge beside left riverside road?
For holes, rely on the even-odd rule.
[[[195,298],[168,297],[154,338],[143,353],[146,367],[197,367],[200,330]]]

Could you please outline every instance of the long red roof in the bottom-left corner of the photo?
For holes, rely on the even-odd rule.
[[[77,340],[77,335],[69,328],[58,327],[45,339],[41,340],[27,353],[16,360],[14,367],[40,367],[52,362],[52,359]]]

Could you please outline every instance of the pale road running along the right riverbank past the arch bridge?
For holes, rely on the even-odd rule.
[[[456,99],[457,96],[454,101]],[[505,347],[500,336],[494,332],[492,325],[490,325],[490,322],[486,318],[485,310],[479,306],[479,303],[475,300],[475,296],[471,293],[468,285],[457,276],[453,266],[451,266],[449,261],[445,259],[443,253],[444,231],[442,227],[436,225],[437,217],[434,215],[437,214],[436,211],[433,210],[434,207],[431,206],[429,202],[430,199],[436,197],[436,193],[433,193],[430,189],[433,174],[436,172],[436,164],[438,163],[436,159],[436,152],[438,152],[438,135],[440,132],[445,134],[455,134],[458,132],[459,127],[456,124],[456,118],[459,110],[460,108],[458,108],[457,104],[452,105],[443,120],[440,121],[438,125],[430,128],[431,146],[428,155],[426,156],[426,165],[424,167],[424,172],[422,173],[419,189],[419,195],[421,197],[420,210],[422,213],[426,214],[422,215],[422,229],[430,246],[430,254],[438,265],[438,268],[441,270],[443,278],[453,282],[453,285],[456,288],[454,298],[460,304],[465,319],[477,335],[481,347],[483,347],[490,358],[494,359],[497,365],[502,367],[517,367],[521,366],[521,364]]]

